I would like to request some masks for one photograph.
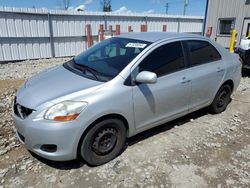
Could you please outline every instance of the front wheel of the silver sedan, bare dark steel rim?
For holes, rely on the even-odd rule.
[[[80,143],[80,156],[91,166],[109,162],[124,148],[126,128],[119,119],[105,119],[94,125]]]

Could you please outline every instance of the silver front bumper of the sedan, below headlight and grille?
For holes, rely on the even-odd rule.
[[[67,161],[77,157],[78,142],[82,133],[82,124],[77,119],[54,122],[32,119],[32,114],[25,119],[21,119],[14,113],[12,116],[17,137],[28,150],[53,161]],[[56,146],[56,150],[52,152],[44,150],[45,145]]]

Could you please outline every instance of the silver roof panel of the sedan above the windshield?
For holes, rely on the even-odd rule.
[[[148,42],[156,42],[162,39],[173,39],[173,38],[185,38],[192,37],[197,39],[204,39],[205,37],[198,34],[189,34],[189,33],[177,33],[177,32],[141,32],[141,33],[127,33],[119,35],[120,38],[130,38],[136,40],[143,40]]]

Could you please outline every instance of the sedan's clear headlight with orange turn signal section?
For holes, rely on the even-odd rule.
[[[50,107],[44,114],[44,119],[54,121],[70,121],[86,109],[87,102],[63,101]]]

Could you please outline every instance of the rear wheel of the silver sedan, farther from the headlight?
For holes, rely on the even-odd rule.
[[[225,84],[221,86],[219,91],[217,92],[211,106],[210,106],[210,112],[212,114],[219,114],[226,110],[227,105],[231,101],[231,93],[232,89],[230,85]]]

